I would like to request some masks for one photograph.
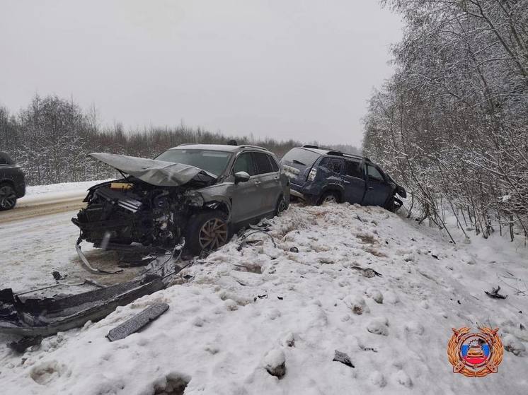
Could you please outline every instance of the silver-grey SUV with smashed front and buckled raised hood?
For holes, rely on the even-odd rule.
[[[265,148],[183,144],[155,159],[90,155],[123,176],[91,187],[88,205],[71,219],[79,242],[95,247],[173,247],[185,237],[186,248],[199,254],[289,205],[289,179]]]

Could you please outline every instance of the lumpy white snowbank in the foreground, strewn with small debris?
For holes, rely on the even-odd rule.
[[[257,233],[248,238],[262,242],[239,251],[234,238],[180,273],[192,276],[183,284],[24,355],[0,337],[2,391],[150,395],[179,380],[185,394],[528,393],[524,247],[500,237],[454,245],[437,229],[348,204],[292,206],[270,223],[276,245]],[[507,299],[485,295],[496,285]],[[105,338],[154,302],[170,309],[137,334]],[[479,324],[498,326],[518,355],[506,351],[488,377],[455,375],[451,329]],[[335,350],[355,367],[334,362]],[[279,380],[265,365],[283,356]]]

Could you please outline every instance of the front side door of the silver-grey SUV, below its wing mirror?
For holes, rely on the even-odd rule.
[[[246,172],[250,178],[246,182],[239,182],[234,185],[232,199],[231,216],[233,223],[241,223],[258,215],[262,205],[260,194],[260,179],[256,175],[256,166],[251,152],[240,153],[234,162],[231,175],[236,172]]]

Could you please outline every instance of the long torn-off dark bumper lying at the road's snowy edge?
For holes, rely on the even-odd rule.
[[[0,290],[0,333],[52,336],[103,319],[117,306],[163,288],[166,283],[156,275],[64,297],[21,300],[7,288]]]

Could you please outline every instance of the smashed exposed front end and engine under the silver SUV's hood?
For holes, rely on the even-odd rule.
[[[198,196],[197,196],[198,195]],[[199,194],[185,187],[156,187],[129,177],[89,189],[88,203],[72,222],[96,247],[139,242],[170,247],[178,242]]]

